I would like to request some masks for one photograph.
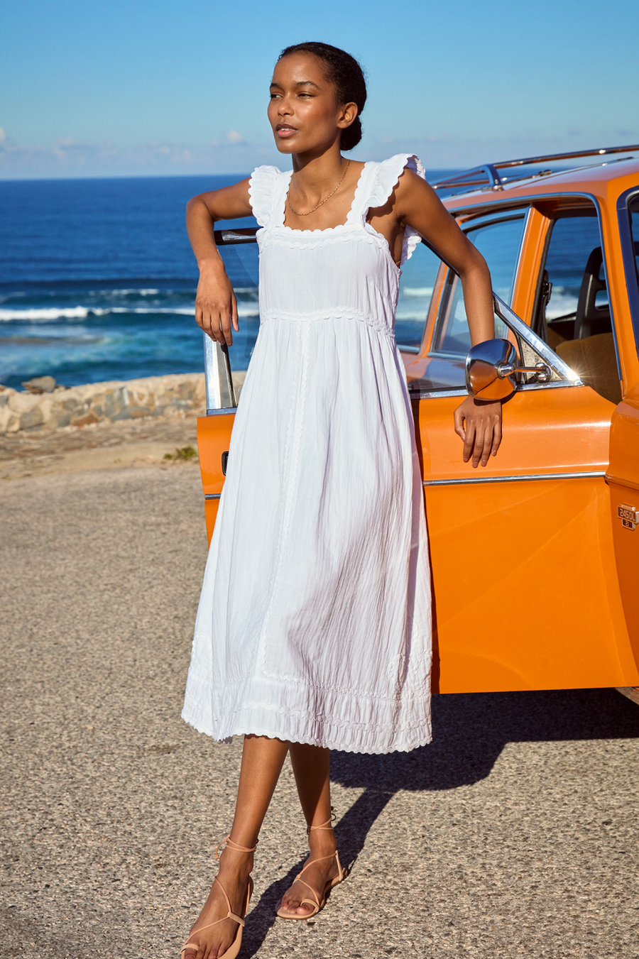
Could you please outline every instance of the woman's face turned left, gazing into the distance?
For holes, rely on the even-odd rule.
[[[357,116],[355,104],[338,103],[313,54],[289,54],[275,64],[269,120],[281,153],[323,152]]]

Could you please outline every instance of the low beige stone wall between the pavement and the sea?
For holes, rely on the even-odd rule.
[[[201,373],[150,376],[68,389],[58,386],[51,393],[39,394],[0,386],[0,434],[83,427],[101,420],[199,415],[205,409],[206,390]]]

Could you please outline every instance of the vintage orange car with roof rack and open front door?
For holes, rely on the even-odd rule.
[[[511,394],[498,455],[473,469],[453,431],[466,377],[477,388],[461,282],[419,244],[396,337],[431,543],[434,691],[639,686],[639,160],[602,159],[638,151],[511,160],[434,184],[490,268],[508,342],[476,347],[475,361]],[[538,169],[575,157],[596,162]],[[216,231],[249,334],[230,365],[204,338],[209,539],[258,322],[255,232]]]

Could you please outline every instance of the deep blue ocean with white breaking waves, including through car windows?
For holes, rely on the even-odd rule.
[[[195,194],[240,178],[0,182],[0,384],[19,387],[48,374],[77,386],[201,370],[198,270],[184,208]],[[240,370],[259,328],[257,249],[226,247],[224,255],[240,316],[231,365]],[[416,342],[423,330],[433,260],[414,256],[405,266],[399,342]],[[567,263],[559,281],[549,316],[574,309],[580,271],[571,273]]]

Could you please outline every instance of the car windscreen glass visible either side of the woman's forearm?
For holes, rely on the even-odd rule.
[[[508,304],[512,297],[524,222],[522,215],[512,220],[485,223],[466,233],[488,265],[492,289]],[[495,336],[506,336],[499,320],[496,321]],[[451,276],[448,295],[442,299],[441,316],[438,317],[436,350],[465,356],[470,345],[461,281],[459,277]]]

